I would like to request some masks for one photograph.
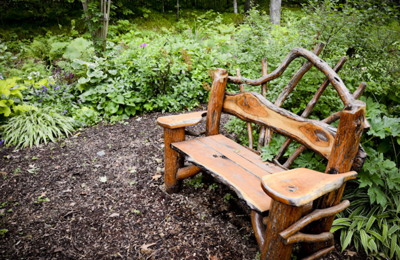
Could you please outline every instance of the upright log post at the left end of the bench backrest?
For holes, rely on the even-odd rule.
[[[227,79],[228,72],[226,69],[217,68],[215,70],[208,101],[207,119],[205,121],[206,136],[219,133],[219,119],[221,118]]]

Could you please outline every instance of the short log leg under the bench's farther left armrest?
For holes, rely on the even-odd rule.
[[[178,152],[171,149],[171,143],[184,141],[184,127],[164,128],[164,183],[166,191],[169,193],[177,192],[180,188],[181,180],[176,178],[176,172],[183,166],[184,158]]]

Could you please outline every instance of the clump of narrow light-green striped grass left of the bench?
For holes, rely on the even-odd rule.
[[[27,111],[13,116],[3,125],[4,142],[16,147],[38,146],[47,139],[55,141],[73,130],[73,119],[59,114],[52,107],[30,107]]]

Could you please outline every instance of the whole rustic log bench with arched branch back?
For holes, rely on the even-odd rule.
[[[307,255],[303,259],[316,259],[332,250],[333,235],[329,230],[333,217],[349,205],[347,200],[340,202],[344,183],[355,178],[366,157],[359,144],[363,129],[368,127],[365,103],[356,100],[365,83],[350,93],[336,74],[345,57],[332,69],[317,56],[322,47],[323,44],[318,44],[314,53],[293,48],[269,74],[263,59],[263,76],[258,79],[242,78],[239,70],[236,70],[236,76],[228,76],[225,69],[218,68],[213,75],[207,111],[157,119],[164,127],[166,190],[177,192],[184,178],[200,171],[232,188],[251,208],[252,226],[262,260],[289,259],[295,242],[302,242],[302,253]],[[293,59],[300,56],[307,62],[293,75],[275,103],[265,99],[266,82],[278,77]],[[304,112],[299,116],[281,108],[287,95],[312,65],[322,71],[326,79]],[[241,92],[225,92],[227,81],[239,84]],[[261,85],[261,94],[244,92],[243,83]],[[307,119],[329,83],[338,92],[344,108],[321,121]],[[219,134],[222,111],[249,122],[249,147]],[[204,116],[205,136],[185,140],[185,126],[199,123]],[[329,125],[339,118],[337,129]],[[252,149],[251,122],[261,126],[258,148],[267,145],[272,131],[287,137],[273,161],[263,162],[259,152]],[[301,145],[286,162],[280,163],[292,140]],[[288,170],[305,148],[327,159],[324,173],[306,168]],[[184,167],[184,160],[191,164]]]

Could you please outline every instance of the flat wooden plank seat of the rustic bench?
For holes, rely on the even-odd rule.
[[[171,148],[231,187],[251,209],[267,214],[271,198],[262,190],[261,178],[284,168],[263,162],[259,155],[222,134],[174,142]]]

